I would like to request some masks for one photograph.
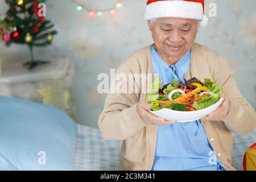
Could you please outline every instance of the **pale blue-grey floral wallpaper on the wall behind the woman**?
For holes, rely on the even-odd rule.
[[[77,0],[90,9],[105,9],[116,0]],[[245,3],[246,2],[246,3]],[[207,0],[215,3],[217,16],[209,17],[208,27],[200,29],[196,42],[215,49],[225,57],[236,74],[243,96],[256,109],[256,1]],[[68,57],[75,65],[75,101],[79,123],[97,127],[97,119],[104,106],[105,94],[97,93],[97,76],[110,73],[111,68],[127,59],[131,53],[152,43],[144,21],[146,0],[124,0],[115,14],[89,18],[85,10],[77,11],[71,0],[47,2],[47,18],[59,34],[52,47],[37,48],[36,57],[51,60]],[[0,0],[0,14],[6,11]],[[0,43],[2,60],[26,61],[27,47]]]

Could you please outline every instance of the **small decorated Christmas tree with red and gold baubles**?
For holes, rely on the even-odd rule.
[[[6,0],[9,5],[5,17],[0,17],[0,38],[7,46],[11,43],[26,44],[30,49],[31,60],[24,64],[28,69],[48,61],[34,59],[33,48],[46,47],[52,43],[53,24],[46,20],[46,0]]]

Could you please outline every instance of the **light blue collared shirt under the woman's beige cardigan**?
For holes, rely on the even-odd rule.
[[[174,78],[184,82],[183,77],[189,69],[191,50],[175,65],[168,65],[151,47],[151,61],[154,73],[158,73],[163,85]],[[158,126],[155,160],[152,170],[163,171],[218,171],[224,168],[220,164],[209,144],[200,119],[193,122],[176,122],[170,126]]]

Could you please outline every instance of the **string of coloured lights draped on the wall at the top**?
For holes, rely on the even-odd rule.
[[[76,2],[76,0],[72,0],[72,1],[74,3],[76,3],[77,11],[81,11],[82,9],[84,9],[85,11],[87,11],[89,17],[93,17],[95,15],[102,16],[105,13],[115,14],[116,9],[119,9],[123,6],[123,4],[122,4],[123,0],[117,0],[117,2],[115,2],[114,5],[110,9],[92,10],[92,9],[89,9],[85,5],[80,5],[79,3]]]

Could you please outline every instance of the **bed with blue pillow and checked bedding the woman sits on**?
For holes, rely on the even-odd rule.
[[[56,107],[0,96],[0,170],[117,170],[122,141],[78,125]],[[97,122],[97,121],[95,121]],[[233,166],[242,170],[256,130],[234,135]]]

